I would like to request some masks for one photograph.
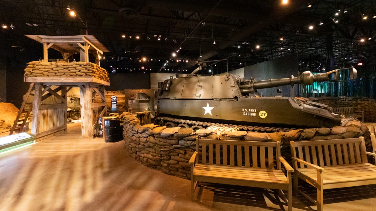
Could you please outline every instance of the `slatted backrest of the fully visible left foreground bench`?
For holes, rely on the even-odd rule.
[[[196,163],[281,169],[280,142],[196,139]]]

